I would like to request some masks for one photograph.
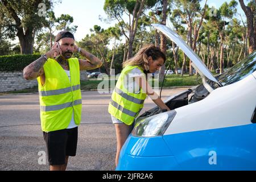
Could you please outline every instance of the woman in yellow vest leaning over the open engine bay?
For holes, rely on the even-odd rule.
[[[108,109],[117,135],[115,166],[118,164],[121,148],[132,130],[134,119],[143,108],[146,96],[149,96],[160,109],[170,110],[152,90],[146,76],[147,73],[159,70],[165,61],[164,53],[149,44],[123,63],[123,70],[115,85]]]

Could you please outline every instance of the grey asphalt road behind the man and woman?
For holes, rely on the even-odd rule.
[[[167,96],[186,88],[164,89]],[[67,170],[114,170],[116,140],[108,104],[110,93],[82,92],[82,121],[77,154]],[[147,98],[141,113],[155,106]],[[0,170],[48,170],[40,127],[38,94],[0,96]]]

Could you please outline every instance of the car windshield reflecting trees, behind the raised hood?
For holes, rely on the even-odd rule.
[[[256,51],[216,78],[224,86],[242,80],[254,71],[256,71]]]

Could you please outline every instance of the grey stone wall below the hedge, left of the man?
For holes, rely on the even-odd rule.
[[[38,85],[37,80],[25,80],[23,72],[0,72],[0,92],[22,90]]]

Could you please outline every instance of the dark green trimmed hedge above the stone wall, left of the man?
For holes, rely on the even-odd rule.
[[[7,55],[0,56],[0,71],[1,72],[14,72],[23,71],[23,69],[41,55]]]

